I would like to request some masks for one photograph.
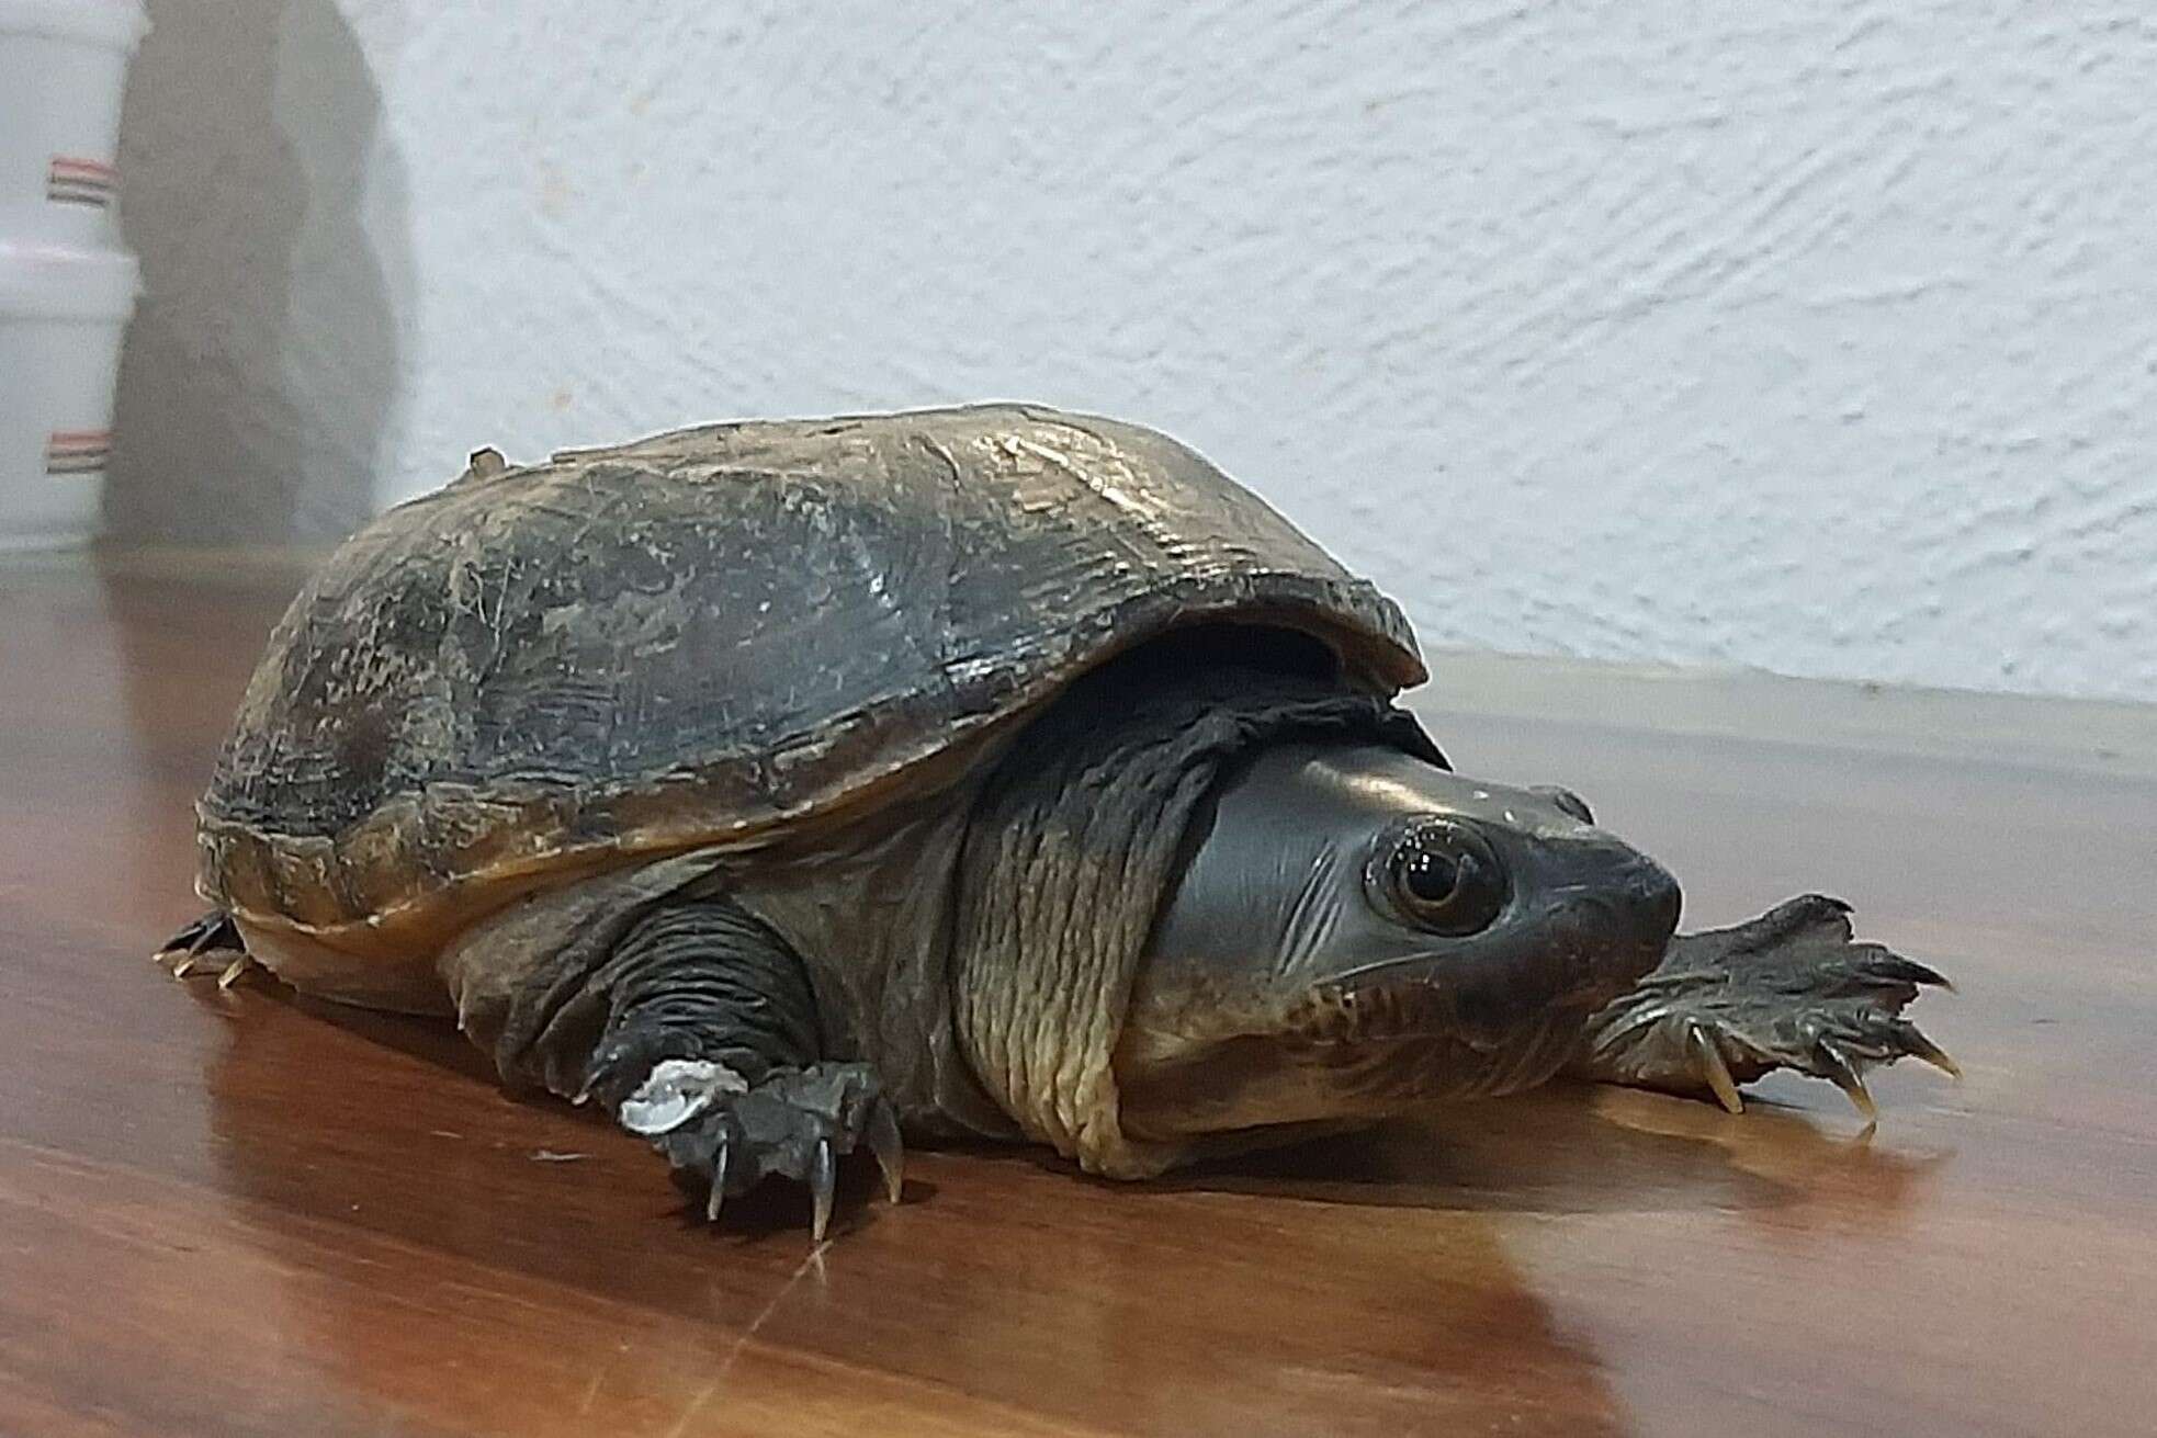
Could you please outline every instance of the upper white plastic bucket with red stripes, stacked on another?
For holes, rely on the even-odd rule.
[[[114,244],[121,88],[140,0],[0,0],[0,239]]]

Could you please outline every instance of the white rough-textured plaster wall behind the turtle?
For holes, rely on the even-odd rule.
[[[129,97],[179,343],[119,515],[1025,397],[1197,444],[1437,645],[2157,699],[2144,0],[252,0],[239,119],[205,9]],[[134,203],[203,175],[283,250]],[[127,427],[205,358],[237,481]]]

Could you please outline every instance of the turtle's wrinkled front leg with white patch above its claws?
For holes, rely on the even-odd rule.
[[[826,1054],[800,957],[742,908],[699,899],[651,910],[565,1013],[593,1005],[604,1022],[580,1063],[537,1054],[548,1084],[606,1104],[649,1138],[707,1218],[729,1194],[783,1175],[809,1186],[822,1242],[837,1160],[856,1147],[876,1156],[897,1203],[899,1125],[876,1071]],[[569,1067],[580,1067],[576,1087],[563,1082]]]

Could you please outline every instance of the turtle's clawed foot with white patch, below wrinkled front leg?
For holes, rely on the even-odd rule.
[[[664,1059],[615,1112],[651,1138],[684,1186],[705,1194],[714,1222],[727,1197],[777,1173],[809,1186],[811,1242],[824,1242],[839,1160],[856,1145],[869,1147],[884,1190],[899,1201],[899,1119],[863,1063],[777,1069],[748,1084],[720,1063]]]

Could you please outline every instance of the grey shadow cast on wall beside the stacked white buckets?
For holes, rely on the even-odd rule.
[[[332,0],[151,0],[121,112],[142,304],[112,541],[311,541],[373,509],[397,386],[403,170]]]

